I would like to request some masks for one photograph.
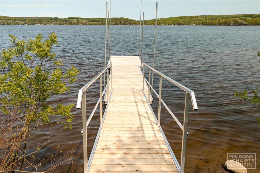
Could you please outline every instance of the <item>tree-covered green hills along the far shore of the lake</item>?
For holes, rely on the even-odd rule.
[[[8,17],[0,16],[1,25],[105,25],[105,18],[82,17]],[[155,19],[145,20],[154,25]],[[139,25],[140,20],[111,18],[111,25]],[[260,25],[260,14],[179,16],[157,19],[157,25]]]

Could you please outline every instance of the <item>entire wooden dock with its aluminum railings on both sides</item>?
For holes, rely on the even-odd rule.
[[[148,80],[144,75],[145,66],[149,72]],[[160,76],[159,94],[151,86],[151,71]],[[186,93],[183,125],[161,98],[162,78]],[[97,79],[100,98],[87,120],[86,90]],[[159,99],[158,119],[151,107],[153,98],[150,91]],[[81,109],[82,105],[84,173],[184,173],[190,99],[193,110],[198,110],[195,94],[191,89],[146,63],[141,63],[139,56],[111,56],[108,65],[84,85],[78,94],[76,108]],[[103,110],[103,102],[107,105],[104,114],[103,111],[100,112],[100,127],[88,159],[87,127],[97,107],[100,105],[100,110]],[[180,164],[160,126],[161,104],[183,131]]]

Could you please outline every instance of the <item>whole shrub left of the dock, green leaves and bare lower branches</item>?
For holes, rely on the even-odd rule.
[[[0,59],[0,113],[3,113],[0,114],[0,139],[4,139],[0,140],[0,149],[3,149],[0,172],[10,173],[15,168],[23,172],[23,169],[37,169],[41,165],[33,165],[35,160],[25,159],[29,156],[35,158],[44,146],[40,146],[40,140],[34,141],[38,144],[37,148],[32,151],[33,148],[30,147],[32,152],[27,153],[26,141],[31,137],[28,134],[31,130],[46,123],[51,123],[50,127],[54,123],[62,123],[64,128],[72,128],[73,114],[70,110],[74,104],[60,103],[54,106],[48,101],[52,96],[69,91],[68,84],[74,83],[79,72],[74,66],[63,72],[61,59],[56,60],[55,53],[51,53],[52,46],[58,44],[55,33],[48,35],[46,40],[43,40],[41,34],[27,41],[9,36],[12,46],[1,51]],[[49,140],[50,136],[46,143]],[[53,160],[49,170],[64,163],[61,161],[63,159],[65,156],[60,157],[56,163]]]

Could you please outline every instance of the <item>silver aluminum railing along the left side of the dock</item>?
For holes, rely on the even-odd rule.
[[[110,68],[110,78],[109,78],[109,68]],[[107,85],[104,88],[104,91],[102,92],[102,74],[105,73],[107,71]],[[99,78],[99,88],[100,88],[100,98],[96,103],[96,106],[94,107],[92,113],[90,114],[88,120],[87,120],[87,113],[86,113],[86,90]],[[104,79],[106,77],[104,76]],[[110,89],[110,94],[109,92],[109,79],[110,79],[110,83],[111,83],[111,89]],[[88,124],[90,122],[90,120],[92,119],[98,105],[100,104],[100,129],[103,125],[103,112],[102,112],[102,104],[103,104],[103,95],[104,93],[107,92],[106,96],[107,96],[107,101],[109,102],[109,98],[112,94],[112,63],[108,64],[106,66],[106,68],[104,68],[104,70],[102,70],[99,74],[97,74],[92,80],[90,80],[86,85],[84,85],[80,90],[79,90],[79,94],[78,94],[78,99],[77,99],[77,109],[81,108],[82,105],[82,124],[83,124],[83,130],[81,133],[83,133],[83,157],[84,157],[84,173],[87,173],[90,167],[90,162],[88,163],[88,151],[87,151],[87,127]],[[105,111],[106,112],[106,111]],[[104,113],[105,114],[105,113]],[[99,132],[100,133],[100,130]],[[99,134],[98,134],[99,136]],[[97,143],[97,140],[94,142],[94,146],[95,143]],[[90,161],[93,158],[94,155],[94,151],[95,148],[93,147],[92,152],[90,154]],[[88,165],[89,164],[89,165]]]

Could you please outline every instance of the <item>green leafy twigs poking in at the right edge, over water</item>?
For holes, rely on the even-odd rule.
[[[257,55],[260,56],[260,52],[258,52]],[[244,91],[243,93],[237,93],[237,91],[235,91],[234,97],[240,98],[240,101],[248,102],[251,105],[260,109],[260,97],[258,96],[258,89],[256,88],[254,91],[250,92],[250,94],[252,94],[250,97],[248,97],[247,94],[248,93],[246,91]],[[260,127],[260,119],[257,118],[256,121],[259,122],[258,126]]]

